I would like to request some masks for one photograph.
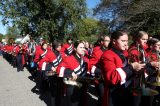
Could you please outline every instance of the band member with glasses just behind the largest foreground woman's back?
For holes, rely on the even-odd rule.
[[[104,51],[108,49],[108,45],[110,43],[109,36],[101,36],[99,39],[101,45],[96,46],[93,49],[93,53],[89,60],[90,73],[92,76],[101,76],[101,65],[100,58]],[[95,83],[96,89],[98,91],[98,106],[102,105],[103,91],[104,91],[104,83],[103,81]]]

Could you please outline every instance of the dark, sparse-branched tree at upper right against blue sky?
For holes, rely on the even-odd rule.
[[[109,19],[111,30],[145,30],[151,34],[160,31],[160,0],[101,0],[94,13]]]

